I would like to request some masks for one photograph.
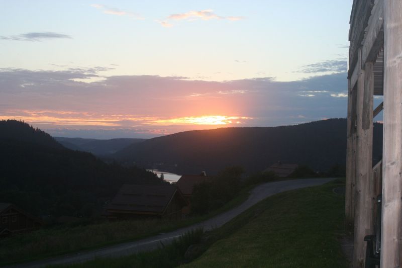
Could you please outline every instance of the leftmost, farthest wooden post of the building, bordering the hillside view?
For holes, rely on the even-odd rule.
[[[346,135],[346,189],[345,189],[345,229],[347,233],[354,230],[354,196],[356,177],[356,87],[348,80],[348,123]]]

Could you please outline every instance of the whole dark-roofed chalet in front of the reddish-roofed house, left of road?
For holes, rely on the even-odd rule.
[[[170,185],[123,185],[106,207],[110,220],[133,218],[181,219],[186,201],[176,187]]]

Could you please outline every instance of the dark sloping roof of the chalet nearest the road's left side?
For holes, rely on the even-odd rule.
[[[170,185],[123,185],[107,210],[163,213],[176,192]]]

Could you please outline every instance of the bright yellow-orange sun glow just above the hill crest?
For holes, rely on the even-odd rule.
[[[238,116],[190,116],[190,117],[179,117],[173,119],[156,120],[152,123],[156,124],[178,124],[178,125],[228,125],[228,124],[240,124],[239,120],[251,119],[249,117],[238,117]],[[233,122],[233,120],[235,120]]]

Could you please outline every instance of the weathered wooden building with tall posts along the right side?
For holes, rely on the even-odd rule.
[[[370,234],[380,267],[402,267],[402,1],[354,0],[349,41],[345,223],[354,238],[353,267],[364,267]],[[374,96],[383,96],[376,108]],[[383,158],[373,163],[373,118],[381,110]]]

